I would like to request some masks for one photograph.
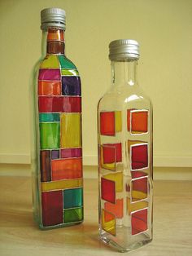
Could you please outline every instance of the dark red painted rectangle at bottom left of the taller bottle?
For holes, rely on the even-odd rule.
[[[63,223],[63,192],[41,193],[42,223],[45,227]]]

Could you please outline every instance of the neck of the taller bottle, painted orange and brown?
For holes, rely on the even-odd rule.
[[[49,54],[64,55],[64,30],[50,27],[42,31],[41,54],[43,56]]]

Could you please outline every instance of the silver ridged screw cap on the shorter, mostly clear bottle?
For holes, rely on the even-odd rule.
[[[109,44],[110,60],[139,59],[139,44],[131,39],[119,39]]]

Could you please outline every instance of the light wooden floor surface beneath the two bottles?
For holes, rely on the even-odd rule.
[[[154,240],[129,253],[192,255],[192,182],[156,181]],[[118,255],[98,241],[98,183],[85,179],[85,222],[40,231],[33,223],[31,180],[0,178],[0,255]],[[122,254],[120,254],[122,255]]]

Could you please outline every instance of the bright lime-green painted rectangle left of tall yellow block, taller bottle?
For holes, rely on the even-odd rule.
[[[60,123],[40,123],[39,127],[41,149],[59,148]]]

